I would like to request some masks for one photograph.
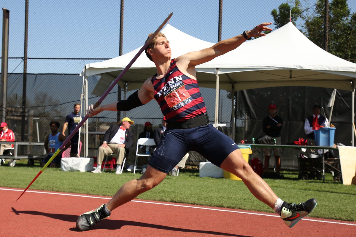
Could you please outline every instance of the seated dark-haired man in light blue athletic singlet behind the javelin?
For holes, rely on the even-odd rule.
[[[51,133],[49,133],[45,138],[45,149],[47,152],[46,158],[44,158],[41,162],[41,166],[45,166],[49,159],[53,156],[53,154],[59,149],[59,147],[63,144],[63,141],[66,140],[66,136],[59,133],[57,130],[60,124],[58,121],[49,122],[49,127],[51,128]],[[61,166],[61,158],[63,151],[67,150],[70,146],[70,141],[64,146],[64,148],[57,154],[57,156],[53,159],[51,163],[49,163],[49,167],[60,167]]]

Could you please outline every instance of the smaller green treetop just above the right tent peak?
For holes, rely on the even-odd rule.
[[[277,9],[273,9],[271,12],[271,15],[274,20],[274,25],[277,26],[277,28],[280,28],[284,25],[286,25],[289,22],[289,11],[291,10],[291,20],[293,24],[295,25],[295,21],[298,20],[302,10],[301,10],[301,5],[299,0],[294,1],[294,6],[291,7],[288,3],[282,3],[281,5],[278,6],[278,11]]]

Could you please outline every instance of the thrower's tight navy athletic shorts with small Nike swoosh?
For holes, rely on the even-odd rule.
[[[148,164],[168,173],[188,151],[196,151],[220,167],[225,158],[237,149],[239,146],[231,138],[211,124],[188,129],[167,128]]]

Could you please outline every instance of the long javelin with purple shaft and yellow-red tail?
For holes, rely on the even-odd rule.
[[[140,54],[143,52],[143,50],[146,49],[146,47],[148,46],[148,44],[151,43],[151,41],[153,40],[153,38],[158,34],[159,31],[161,31],[161,29],[163,28],[164,25],[166,25],[167,21],[169,20],[169,18],[171,18],[173,15],[173,12],[171,12],[171,14],[168,15],[168,17],[166,18],[166,20],[164,20],[162,22],[162,24],[156,29],[155,33],[152,34],[152,36],[150,38],[147,39],[147,41],[145,42],[145,44],[143,44],[142,48],[140,50],[138,50],[137,54],[133,57],[133,59],[130,61],[129,64],[127,64],[126,68],[124,68],[124,70],[122,70],[122,72],[120,73],[119,76],[116,77],[115,81],[113,81],[111,83],[111,85],[109,86],[108,89],[106,89],[106,91],[104,92],[104,94],[100,97],[100,99],[98,99],[98,101],[96,101],[96,103],[94,104],[94,108],[98,107],[101,102],[103,102],[103,100],[105,99],[105,97],[109,94],[109,92],[112,90],[112,88],[114,88],[114,86],[117,84],[117,82],[120,81],[121,77],[124,76],[125,72],[127,70],[129,70],[129,68],[132,66],[132,64],[136,61],[136,59],[138,58],[138,56],[140,56]],[[38,172],[38,174],[36,175],[36,177],[32,180],[32,182],[30,184],[28,184],[27,188],[25,190],[23,190],[23,192],[21,193],[21,195],[19,196],[19,198],[16,199],[19,200],[22,196],[22,194],[24,194],[26,192],[26,190],[31,186],[31,184],[33,182],[35,182],[35,180],[37,179],[38,176],[40,176],[40,174],[45,170],[45,168],[47,168],[47,166],[49,165],[49,163],[51,163],[53,161],[53,159],[58,155],[58,153],[63,149],[63,147],[68,143],[68,141],[73,137],[73,135],[79,130],[79,128],[85,123],[85,121],[87,121],[88,119],[88,115],[85,115],[85,117],[82,119],[82,121],[80,121],[80,123],[75,127],[75,129],[72,131],[72,133],[70,133],[67,137],[66,140],[63,141],[62,145],[58,148],[58,150],[56,152],[54,152],[54,154],[52,155],[52,157],[49,159],[49,161],[46,163],[45,166],[43,166],[43,168],[40,170],[40,172]]]

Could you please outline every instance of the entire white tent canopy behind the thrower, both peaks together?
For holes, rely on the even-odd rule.
[[[213,45],[189,36],[169,24],[162,32],[171,43],[172,58]],[[102,87],[109,86],[140,48],[113,59],[87,64],[85,75],[102,74],[104,76],[98,84]],[[196,68],[201,87],[215,88],[218,72],[220,89],[229,91],[300,85],[350,91],[350,82],[356,80],[356,64],[319,48],[292,22],[272,31],[266,37],[247,41],[239,48]],[[155,73],[155,65],[142,53],[119,83],[122,86],[124,82],[128,82],[129,90],[138,89],[144,80]],[[102,90],[96,88],[94,94],[102,95],[107,87]]]

